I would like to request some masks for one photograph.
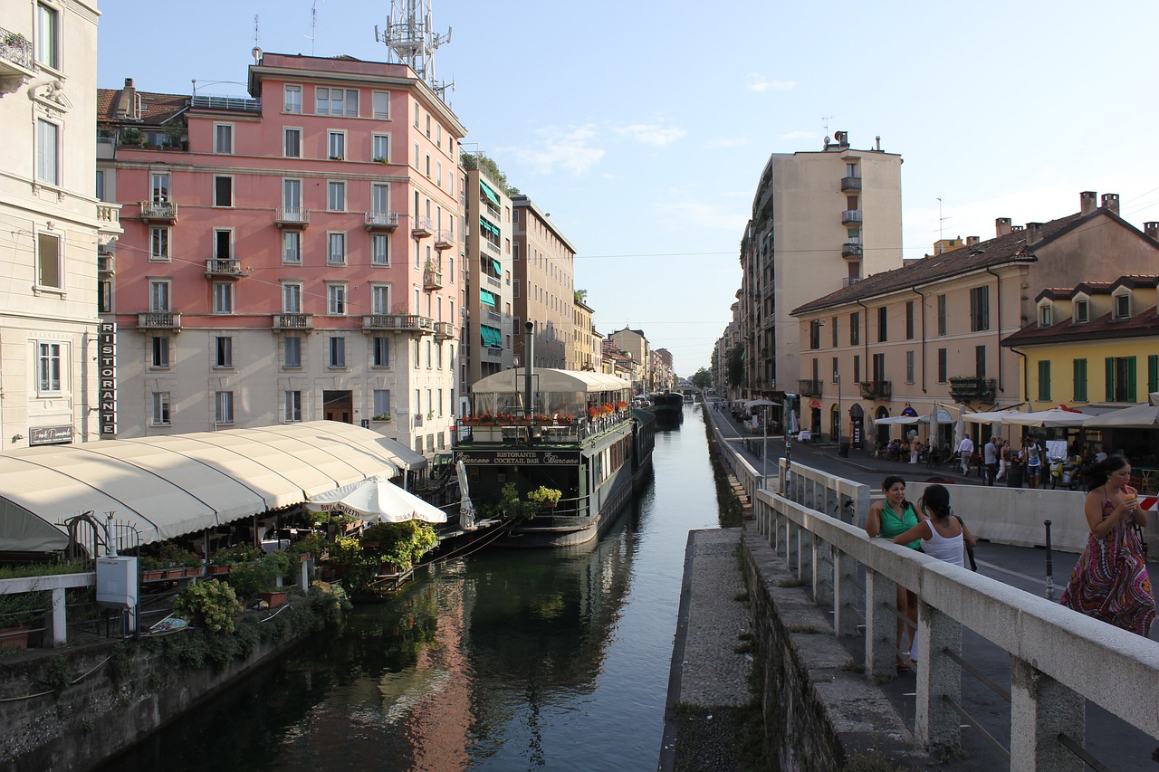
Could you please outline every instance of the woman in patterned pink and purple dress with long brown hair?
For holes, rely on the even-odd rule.
[[[1131,465],[1122,456],[1087,472],[1083,511],[1091,536],[1063,591],[1063,605],[1146,638],[1156,618],[1142,539],[1147,515],[1130,480]]]

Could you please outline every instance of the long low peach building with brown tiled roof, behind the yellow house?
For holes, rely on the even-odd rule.
[[[881,440],[889,427],[875,429],[874,418],[906,407],[928,415],[938,402],[992,409],[1032,399],[1019,354],[1004,341],[1040,313],[1034,298],[1124,272],[1153,275],[1159,264],[1154,224],[1144,233],[1120,217],[1117,195],[1103,195],[1101,206],[1096,198],[1081,192],[1078,213],[1049,223],[1014,226],[998,218],[993,239],[970,236],[962,248],[793,309],[802,342],[802,424],[836,436],[843,422],[854,443]]]

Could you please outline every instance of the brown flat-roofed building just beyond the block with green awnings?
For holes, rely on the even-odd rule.
[[[525,195],[511,197],[515,351],[524,352],[524,322],[532,322],[535,367],[568,367],[575,341],[575,257],[570,241]]]

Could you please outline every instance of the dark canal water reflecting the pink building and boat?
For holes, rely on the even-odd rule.
[[[422,570],[105,769],[655,769],[688,531],[721,525],[700,406],[653,461],[598,544]]]

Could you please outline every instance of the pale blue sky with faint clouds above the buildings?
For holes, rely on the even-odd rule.
[[[255,17],[264,51],[387,60],[374,41],[387,0],[145,7],[101,0],[100,87],[245,94]],[[1118,194],[1137,227],[1159,220],[1154,0],[430,8],[451,34],[435,73],[453,82],[464,150],[551,213],[597,329],[643,330],[685,377],[731,319],[770,153],[821,150],[836,131],[902,155],[905,257],[992,238],[998,217],[1074,213],[1083,190]]]

